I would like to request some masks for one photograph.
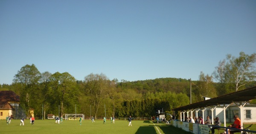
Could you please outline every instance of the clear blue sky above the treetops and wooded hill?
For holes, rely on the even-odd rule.
[[[43,73],[138,81],[211,75],[256,52],[256,0],[0,0],[0,84]]]

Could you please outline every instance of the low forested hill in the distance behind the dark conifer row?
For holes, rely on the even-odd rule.
[[[235,92],[232,87],[233,84],[220,84],[212,81],[192,81],[191,84],[191,94],[192,102],[201,101],[202,97],[214,98],[221,95],[225,95],[230,92]],[[247,89],[254,87],[256,82],[249,82],[241,89]],[[137,93],[142,94],[145,97],[147,93],[157,93],[157,92],[172,92],[172,93],[183,93],[188,97],[190,96],[190,81],[183,78],[156,78],[152,80],[144,81],[125,81],[117,83],[118,89],[132,89]]]

